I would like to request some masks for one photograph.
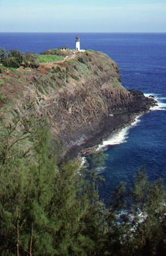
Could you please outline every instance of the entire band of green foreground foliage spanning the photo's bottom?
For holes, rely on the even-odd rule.
[[[132,191],[121,182],[106,209],[98,196],[100,154],[90,169],[59,163],[47,120],[15,109],[0,124],[1,255],[165,255],[162,180],[149,183],[141,168]]]

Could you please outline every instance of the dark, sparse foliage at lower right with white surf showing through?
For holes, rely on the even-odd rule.
[[[121,183],[107,216],[107,255],[165,255],[165,187],[148,182],[145,167],[135,173],[132,191]],[[130,202],[124,208],[124,198]],[[132,204],[132,205],[131,205]],[[119,211],[120,210],[120,211]],[[162,253],[162,254],[160,254]]]

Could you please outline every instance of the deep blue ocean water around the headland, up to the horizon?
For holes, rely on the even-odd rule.
[[[75,33],[0,33],[0,47],[42,52],[75,47]],[[82,49],[108,54],[120,68],[125,88],[135,88],[158,99],[158,107],[140,116],[129,129],[105,141],[108,154],[100,193],[107,201],[120,181],[130,182],[146,164],[150,181],[166,183],[166,33],[79,33]],[[108,145],[109,144],[109,145]]]

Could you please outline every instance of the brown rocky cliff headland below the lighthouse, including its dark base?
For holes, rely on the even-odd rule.
[[[36,117],[49,116],[52,133],[70,157],[130,122],[133,113],[147,111],[154,104],[143,93],[123,88],[117,64],[102,52],[69,52],[64,61],[40,63],[38,70],[4,69],[1,81],[5,77],[15,77],[15,90],[8,83],[17,109],[22,112],[24,106],[28,115],[34,108]],[[4,84],[7,102],[11,95]],[[3,103],[1,99],[1,106]]]

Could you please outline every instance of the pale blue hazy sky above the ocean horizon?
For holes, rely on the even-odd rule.
[[[0,32],[166,32],[166,0],[0,0]]]

